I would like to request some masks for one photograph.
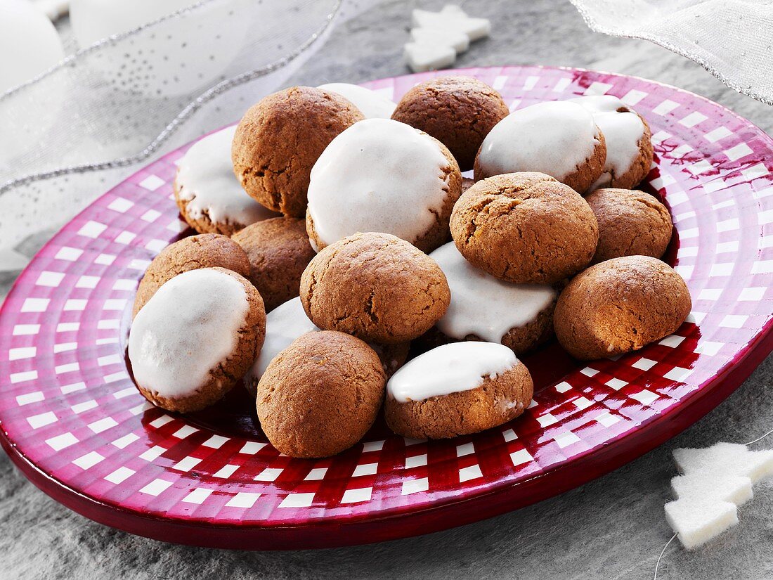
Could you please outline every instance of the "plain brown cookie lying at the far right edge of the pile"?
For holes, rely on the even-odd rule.
[[[574,277],[558,298],[553,326],[581,360],[639,350],[676,331],[690,314],[687,285],[649,256],[613,258]]]

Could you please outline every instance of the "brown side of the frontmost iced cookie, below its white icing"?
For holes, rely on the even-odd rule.
[[[502,425],[526,410],[534,392],[529,370],[518,363],[470,391],[402,403],[386,397],[386,425],[412,439],[444,439]]]

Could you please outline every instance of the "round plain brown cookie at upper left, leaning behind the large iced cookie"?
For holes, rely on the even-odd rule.
[[[341,131],[362,121],[350,101],[327,90],[291,87],[244,114],[233,137],[233,172],[269,210],[304,217],[309,174]]]

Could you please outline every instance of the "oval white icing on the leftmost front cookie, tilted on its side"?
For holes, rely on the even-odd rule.
[[[177,275],[137,313],[129,360],[139,385],[163,397],[195,394],[238,342],[249,303],[233,276],[204,268]]]

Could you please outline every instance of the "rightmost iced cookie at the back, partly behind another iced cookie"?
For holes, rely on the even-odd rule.
[[[570,101],[591,111],[607,145],[604,172],[591,185],[591,189],[631,189],[638,185],[652,165],[652,133],[647,121],[611,94],[579,97]]]

